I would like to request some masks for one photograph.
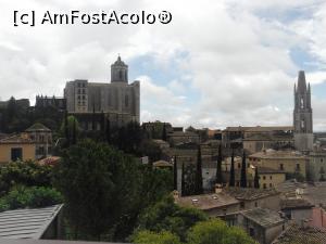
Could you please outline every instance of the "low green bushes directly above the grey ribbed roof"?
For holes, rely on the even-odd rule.
[[[17,185],[0,198],[0,211],[25,207],[46,207],[60,203],[63,203],[63,197],[52,188]]]

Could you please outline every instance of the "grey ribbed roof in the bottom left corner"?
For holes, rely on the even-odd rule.
[[[4,240],[63,239],[63,205],[0,213],[0,243]]]

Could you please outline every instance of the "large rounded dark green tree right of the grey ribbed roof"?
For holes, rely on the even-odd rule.
[[[101,240],[122,216],[129,216],[138,204],[138,175],[139,164],[108,144],[85,140],[64,151],[54,182],[75,232]]]

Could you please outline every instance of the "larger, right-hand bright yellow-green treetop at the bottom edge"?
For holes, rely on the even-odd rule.
[[[198,222],[187,236],[188,244],[254,244],[243,230],[228,227],[221,219],[210,219]]]

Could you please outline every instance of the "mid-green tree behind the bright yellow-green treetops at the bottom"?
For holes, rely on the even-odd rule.
[[[139,218],[138,231],[153,232],[170,231],[186,241],[187,231],[199,221],[206,220],[208,216],[197,208],[181,207],[167,195],[162,201],[143,210]]]

